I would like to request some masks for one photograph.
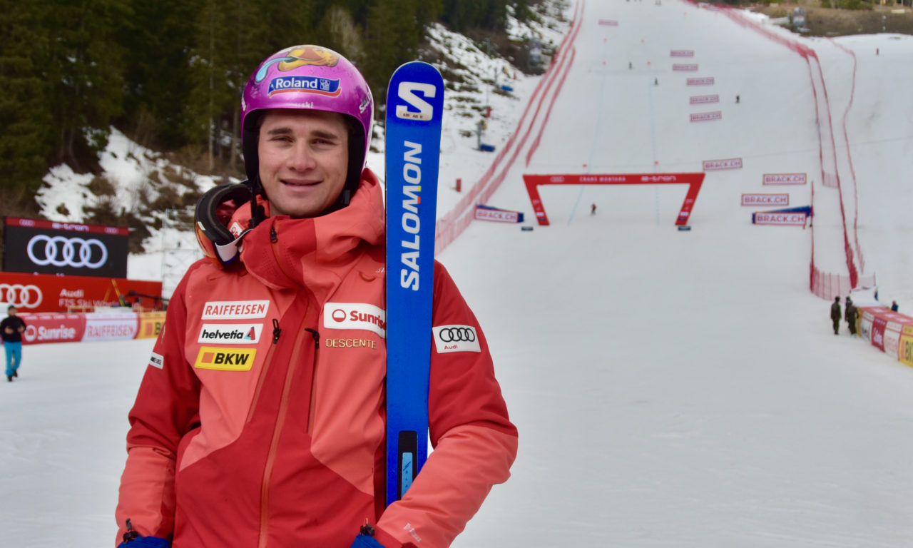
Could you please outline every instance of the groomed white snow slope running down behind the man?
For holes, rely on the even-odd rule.
[[[708,172],[690,232],[674,227],[675,185],[543,186],[550,227],[475,222],[440,254],[486,332],[520,436],[512,478],[453,545],[913,545],[913,370],[845,324],[831,332],[829,303],[809,291],[811,229],[752,226],[755,209],[739,205],[773,192],[808,205],[814,180],[815,260],[845,274],[808,65],[676,0],[577,0],[573,13],[573,62],[530,122],[539,147],[526,165],[525,142],[488,205],[531,216],[522,174],[691,172],[735,157],[743,168]],[[882,301],[913,310],[913,106],[898,93],[913,89],[913,38],[801,40],[818,52],[835,137],[845,116],[834,170],[855,173],[864,272]],[[686,86],[695,74],[673,62],[715,84]],[[688,104],[704,93],[719,104]],[[710,110],[722,119],[688,121]],[[491,160],[457,153],[442,158],[442,181]],[[777,173],[810,182],[761,185]],[[114,541],[126,416],[151,349],[26,347],[22,377],[0,395],[0,545]]]

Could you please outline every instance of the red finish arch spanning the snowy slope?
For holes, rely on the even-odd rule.
[[[545,215],[545,206],[539,196],[541,184],[687,184],[687,195],[681,210],[678,212],[676,225],[687,225],[691,216],[691,208],[698,199],[700,185],[704,182],[704,174],[563,174],[563,175],[523,175],[526,191],[530,193],[532,209],[536,213],[536,220],[544,226],[549,224],[549,217]]]

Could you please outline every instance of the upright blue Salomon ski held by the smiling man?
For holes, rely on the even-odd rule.
[[[418,61],[387,89],[387,504],[428,457],[428,375],[444,80]]]

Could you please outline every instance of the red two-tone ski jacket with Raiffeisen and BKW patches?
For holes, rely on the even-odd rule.
[[[244,208],[247,209],[247,208]],[[508,479],[517,430],[488,344],[436,264],[434,451],[384,508],[384,225],[365,170],[349,206],[269,217],[240,269],[194,263],[173,293],[130,413],[116,511],[174,548],[448,546]],[[453,330],[453,331],[451,331]],[[468,333],[453,342],[446,333]],[[475,337],[471,336],[475,334]]]

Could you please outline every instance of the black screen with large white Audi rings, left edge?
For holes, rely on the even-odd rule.
[[[126,227],[6,217],[6,272],[127,277]]]

